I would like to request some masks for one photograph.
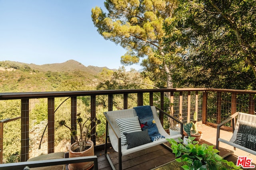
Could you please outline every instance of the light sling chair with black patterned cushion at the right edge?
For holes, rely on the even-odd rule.
[[[237,121],[235,124],[235,119]],[[220,138],[220,127],[231,121],[233,135],[229,141]],[[222,121],[217,126],[216,149],[219,149],[219,143],[223,142],[236,148],[242,149],[248,153],[256,155],[256,115],[236,112],[228,119]]]

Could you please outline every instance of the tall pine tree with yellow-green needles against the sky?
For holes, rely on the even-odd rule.
[[[172,88],[172,65],[166,63],[170,51],[162,50],[162,24],[172,18],[176,0],[106,0],[104,4],[108,13],[92,8],[92,21],[100,35],[127,50],[121,63],[137,64],[146,57],[142,61],[144,74],[158,81],[155,86]],[[161,57],[156,56],[156,51]]]

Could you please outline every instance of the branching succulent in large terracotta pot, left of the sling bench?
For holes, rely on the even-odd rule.
[[[80,117],[80,113],[77,115],[76,122],[79,125],[79,133],[74,129],[74,127],[68,127],[66,125],[66,121],[62,120],[59,122],[60,127],[65,126],[70,130],[71,137],[74,138],[76,141],[69,147],[69,157],[80,157],[80,156],[93,156],[94,155],[94,144],[90,140],[90,138],[95,134],[91,134],[92,130],[96,128],[98,124],[101,123],[99,119],[96,117],[94,119],[91,119],[88,117],[86,121],[83,123],[82,117]],[[94,121],[96,124],[94,127],[90,128],[91,122]],[[93,162],[82,162],[82,163],[76,163],[76,164],[69,164],[68,169],[69,170],[85,170],[89,169],[93,166]]]

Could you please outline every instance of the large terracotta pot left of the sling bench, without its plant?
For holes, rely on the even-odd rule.
[[[76,158],[76,157],[81,157],[81,156],[94,156],[94,145],[91,140],[87,142],[87,145],[90,146],[89,149],[86,149],[82,152],[74,152],[73,150],[76,150],[79,148],[77,143],[73,143],[69,147],[69,157],[70,158]],[[69,170],[87,170],[92,168],[93,162],[81,162],[81,163],[76,163],[76,164],[69,164],[68,169]]]

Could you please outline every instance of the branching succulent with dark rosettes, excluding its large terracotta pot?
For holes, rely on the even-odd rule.
[[[83,119],[82,117],[80,117],[80,113],[78,113],[76,115],[78,118],[76,119],[76,122],[79,125],[79,129],[80,129],[80,133],[78,134],[78,132],[76,131],[76,129],[74,127],[68,127],[66,125],[66,121],[62,120],[59,122],[60,127],[61,126],[65,126],[70,130],[70,135],[71,137],[74,138],[74,140],[76,141],[76,143],[80,146],[79,147],[79,152],[82,152],[84,150],[86,150],[86,144],[88,142],[88,140],[93,136],[93,135],[97,135],[97,133],[92,134],[92,130],[96,128],[96,126],[98,124],[101,123],[100,119],[97,119],[96,117],[94,119],[91,119],[90,117],[88,117],[86,119],[86,121],[83,123]],[[96,122],[96,125],[94,125],[94,127],[90,128],[90,124],[89,122]]]

